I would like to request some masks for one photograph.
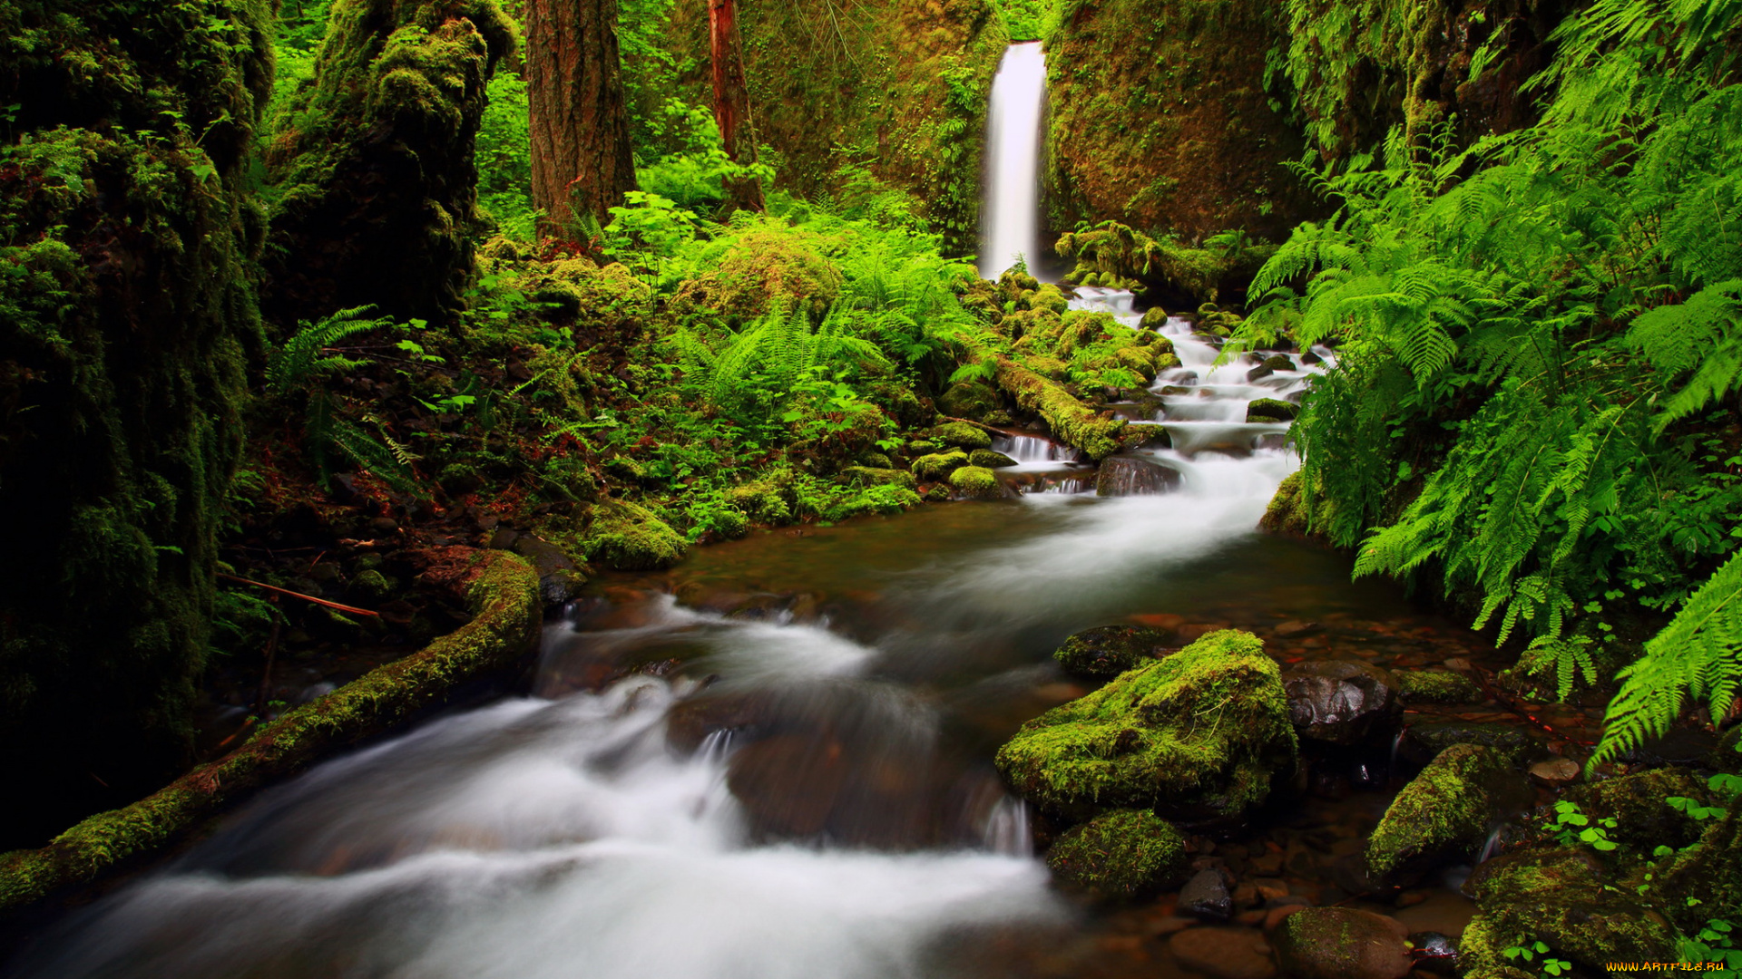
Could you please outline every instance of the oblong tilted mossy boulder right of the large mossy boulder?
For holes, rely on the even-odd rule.
[[[1374,880],[1408,880],[1439,861],[1474,857],[1500,808],[1505,756],[1475,744],[1455,744],[1397,793],[1367,838]]]

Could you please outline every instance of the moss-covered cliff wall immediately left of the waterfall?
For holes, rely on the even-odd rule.
[[[915,197],[948,247],[979,247],[986,99],[1007,31],[989,0],[740,0],[758,141],[779,181],[827,199],[862,165]],[[707,5],[671,12],[683,96],[712,105]],[[634,64],[629,66],[636,70]]]

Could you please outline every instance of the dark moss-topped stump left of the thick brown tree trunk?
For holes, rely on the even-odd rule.
[[[495,0],[338,0],[315,77],[275,108],[267,314],[463,305],[484,85],[517,28]]]

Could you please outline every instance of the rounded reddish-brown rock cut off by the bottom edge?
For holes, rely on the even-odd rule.
[[[1277,962],[1294,979],[1402,979],[1415,967],[1408,928],[1355,908],[1305,908],[1270,934]]]

